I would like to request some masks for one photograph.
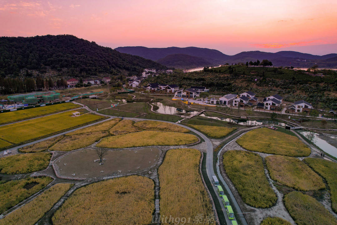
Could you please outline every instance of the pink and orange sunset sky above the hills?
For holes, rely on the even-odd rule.
[[[337,53],[336,0],[0,0],[0,36],[72,34],[102,46]]]

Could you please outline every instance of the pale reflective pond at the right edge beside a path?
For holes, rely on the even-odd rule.
[[[337,143],[337,137],[333,135],[322,135],[322,134],[317,134],[312,131],[305,131],[305,130],[300,130],[299,131],[303,136],[305,136],[308,140],[310,140],[312,143],[314,143],[317,147],[322,149],[323,151],[327,152],[333,157],[337,158],[337,148],[331,145],[331,143]],[[331,139],[331,140],[329,140]]]

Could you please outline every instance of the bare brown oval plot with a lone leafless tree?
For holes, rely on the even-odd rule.
[[[139,148],[132,151],[129,150],[111,150],[104,156],[103,165],[99,165],[99,159],[94,149],[83,149],[73,151],[55,163],[59,168],[59,173],[62,176],[88,178],[112,175],[114,173],[129,173],[143,170],[151,167],[158,162],[159,149],[156,147]],[[81,159],[81,160],[79,160]],[[66,165],[64,165],[66,164]],[[104,171],[104,173],[100,173]],[[85,175],[86,174],[86,175]]]

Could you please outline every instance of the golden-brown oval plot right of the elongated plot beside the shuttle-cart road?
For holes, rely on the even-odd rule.
[[[298,191],[324,189],[325,184],[320,176],[304,162],[288,156],[268,156],[266,164],[273,180]]]

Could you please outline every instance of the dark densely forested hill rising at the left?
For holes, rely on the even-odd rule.
[[[67,71],[70,76],[99,73],[139,73],[166,68],[139,56],[120,53],[73,35],[0,37],[0,75],[19,75],[21,69]],[[68,68],[68,69],[64,69]]]

